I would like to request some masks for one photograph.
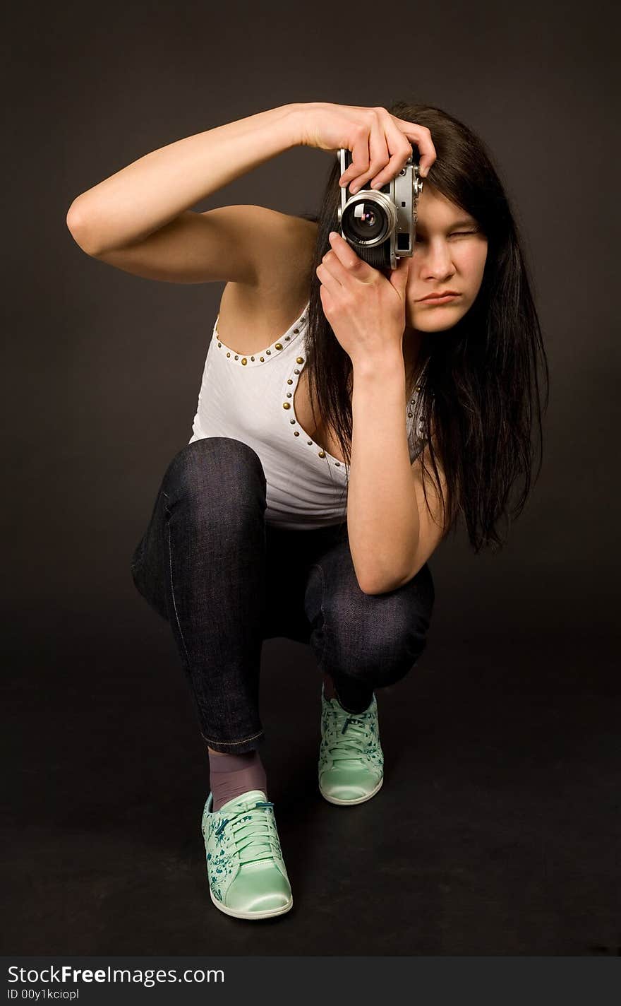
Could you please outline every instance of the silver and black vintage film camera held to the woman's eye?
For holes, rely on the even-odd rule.
[[[341,148],[337,159],[343,174],[352,163],[352,151]],[[414,253],[422,190],[423,179],[414,156],[382,188],[364,188],[352,195],[346,185],[341,189],[339,206],[341,236],[374,269],[396,269],[399,259]]]

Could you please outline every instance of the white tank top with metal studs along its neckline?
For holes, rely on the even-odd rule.
[[[286,332],[252,356],[235,353],[222,342],[218,315],[189,441],[230,437],[251,447],[265,473],[265,520],[293,530],[338,524],[347,516],[348,466],[308,437],[293,408],[306,362],[307,311],[308,303]],[[405,416],[412,462],[423,447],[419,397],[415,392]]]

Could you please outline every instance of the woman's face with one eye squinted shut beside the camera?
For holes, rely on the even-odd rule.
[[[474,303],[487,256],[487,238],[477,228],[473,216],[424,182],[406,285],[406,333],[443,332]],[[423,300],[446,290],[458,296]]]

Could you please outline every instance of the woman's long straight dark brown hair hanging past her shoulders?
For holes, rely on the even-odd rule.
[[[388,111],[430,130],[437,158],[424,185],[432,185],[471,213],[487,237],[478,295],[466,314],[453,328],[442,332],[441,338],[437,333],[423,336],[417,384],[419,401],[423,403],[420,429],[432,467],[431,474],[423,457],[425,501],[425,477],[431,476],[446,529],[455,530],[456,518],[462,513],[474,552],[487,547],[495,552],[504,544],[511,520],[522,513],[534,478],[539,477],[542,412],[549,400],[548,360],[522,239],[491,157],[467,126],[430,105],[400,101],[389,106]],[[416,148],[414,153],[418,156]],[[315,272],[330,250],[330,231],[339,229],[340,175],[335,158],[319,216],[302,214],[319,225],[310,278],[306,357],[312,408],[334,430],[349,466],[352,361],[326,319]],[[540,366],[545,387],[543,404]],[[417,424],[413,436],[416,432]],[[439,479],[438,460],[446,480],[446,495]],[[504,536],[498,528],[501,519],[506,521]]]

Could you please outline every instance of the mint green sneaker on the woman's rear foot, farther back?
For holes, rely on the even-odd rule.
[[[326,698],[322,686],[320,793],[331,804],[362,804],[384,782],[375,695],[364,712],[348,712],[336,698]]]

